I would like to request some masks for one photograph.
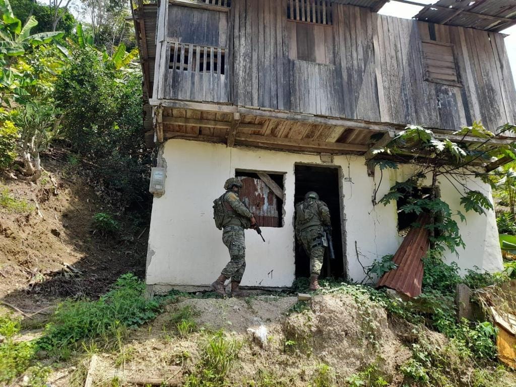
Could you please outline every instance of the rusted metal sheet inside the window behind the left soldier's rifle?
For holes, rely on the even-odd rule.
[[[240,200],[254,214],[260,227],[278,227],[278,201],[272,190],[260,179],[238,178],[244,185]]]

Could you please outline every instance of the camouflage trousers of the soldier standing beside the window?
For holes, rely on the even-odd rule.
[[[229,250],[231,261],[222,270],[221,274],[232,281],[240,282],[246,269],[246,236],[244,228],[236,225],[224,227],[222,242]]]

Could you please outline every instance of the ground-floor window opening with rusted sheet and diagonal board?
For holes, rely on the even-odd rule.
[[[283,196],[278,196],[271,186],[283,192],[285,174],[235,170],[235,177],[244,185],[240,200],[254,214],[258,225],[283,227]]]

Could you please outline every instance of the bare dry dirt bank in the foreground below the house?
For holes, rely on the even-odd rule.
[[[411,352],[397,331],[408,327],[394,327],[383,309],[346,294],[315,296],[304,307],[301,313],[291,312],[303,308],[297,297],[181,298],[131,335],[124,350],[134,356],[124,365],[125,372],[150,376],[157,375],[154,369],[180,366],[188,375],[196,369],[206,338],[223,329],[242,343],[230,385],[255,385],[256,375],[265,372],[278,383],[270,385],[307,386],[321,364],[331,366],[335,385],[372,364],[388,379],[402,379],[398,368]],[[185,308],[192,311],[197,330],[181,336],[171,321]],[[266,346],[250,334],[249,329],[259,327],[266,331]],[[102,359],[101,373],[112,374],[117,355]]]

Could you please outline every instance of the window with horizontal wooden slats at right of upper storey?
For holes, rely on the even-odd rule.
[[[423,40],[423,61],[427,82],[461,86],[453,44]]]

